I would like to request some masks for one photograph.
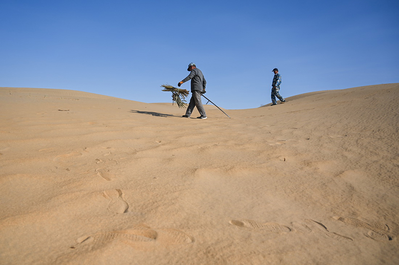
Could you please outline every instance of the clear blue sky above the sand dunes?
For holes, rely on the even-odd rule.
[[[225,109],[399,82],[397,0],[0,0],[0,87],[171,102],[195,62]],[[190,90],[190,82],[182,88]]]

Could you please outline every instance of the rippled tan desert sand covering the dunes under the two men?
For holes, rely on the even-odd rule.
[[[384,84],[199,120],[0,88],[0,264],[399,264],[398,99]]]

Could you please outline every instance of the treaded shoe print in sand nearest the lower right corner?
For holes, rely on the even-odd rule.
[[[365,223],[363,221],[360,221],[355,218],[350,218],[350,217],[339,217],[339,216],[334,216],[333,217],[335,220],[344,222],[346,224],[349,224],[354,227],[359,227],[359,228],[366,228],[371,231],[369,231],[367,234],[365,234],[366,237],[377,240],[377,241],[391,241],[393,239],[393,236],[389,233],[390,228],[388,225],[381,223],[381,222],[372,222],[370,224]]]

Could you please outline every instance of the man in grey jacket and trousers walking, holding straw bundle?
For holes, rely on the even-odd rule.
[[[196,106],[198,112],[201,115],[200,117],[197,117],[197,119],[206,119],[205,110],[202,106],[201,101],[201,95],[206,92],[206,80],[203,77],[201,70],[196,67],[195,63],[189,64],[189,68],[187,69],[187,71],[190,71],[190,74],[178,84],[178,86],[180,87],[183,83],[191,79],[192,96],[190,99],[189,107],[187,107],[186,115],[183,115],[183,117],[190,118],[191,113],[194,110],[194,106]]]

